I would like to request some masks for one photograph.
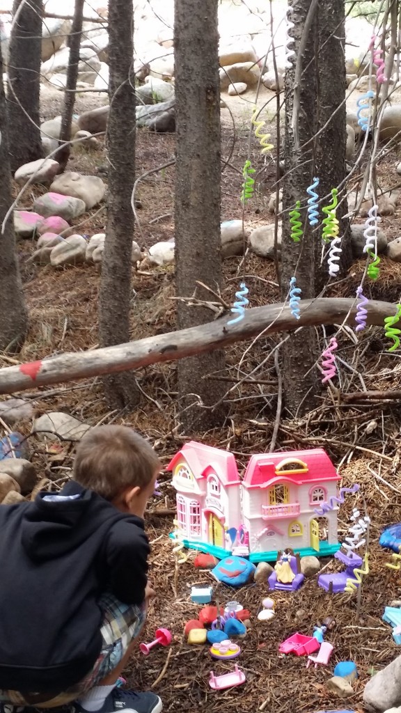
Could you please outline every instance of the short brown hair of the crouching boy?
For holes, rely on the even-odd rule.
[[[146,488],[158,468],[153,448],[129,426],[95,426],[76,449],[73,478],[111,501],[126,488]]]

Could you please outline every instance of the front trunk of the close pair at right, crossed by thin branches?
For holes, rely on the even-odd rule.
[[[304,232],[300,242],[293,242],[289,220],[283,220],[281,246],[281,294],[288,296],[290,279],[295,276],[302,299],[315,296],[315,243],[318,240],[307,220],[305,208],[315,173],[317,61],[316,0],[298,0],[293,4],[290,34],[295,39],[293,68],[285,73],[285,178],[283,180],[283,210],[292,210],[297,200],[304,206],[300,220]],[[307,144],[304,148],[304,145]],[[288,215],[286,213],[285,215]],[[295,319],[295,318],[294,318]],[[315,405],[319,393],[318,342],[315,330],[303,329],[282,347],[283,393],[285,407],[291,414],[303,414]]]

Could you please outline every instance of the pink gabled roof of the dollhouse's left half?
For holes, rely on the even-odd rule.
[[[191,468],[197,480],[205,478],[213,470],[220,479],[223,486],[233,486],[240,483],[237,463],[233,453],[222,451],[220,448],[205,446],[204,443],[189,441],[184,443],[181,451],[178,451],[168,463],[167,470],[172,471],[178,461],[184,458]]]

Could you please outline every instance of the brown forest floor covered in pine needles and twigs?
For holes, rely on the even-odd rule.
[[[56,110],[57,111],[57,110]],[[223,110],[223,113],[226,110]],[[54,116],[54,112],[52,116]],[[46,117],[47,118],[47,117]],[[275,139],[274,128],[271,133]],[[223,125],[223,156],[228,158],[222,176],[222,220],[242,217],[240,186],[245,159],[248,157],[247,126],[237,123],[236,138],[232,126]],[[141,175],[151,168],[166,163],[173,157],[173,135],[137,133],[136,172]],[[271,222],[267,204],[275,180],[272,165],[264,165],[258,146],[252,144],[251,158],[260,170],[255,200],[245,206],[244,219],[248,226],[256,227]],[[378,169],[382,188],[395,185],[399,176],[395,166],[400,161],[397,152],[386,159]],[[106,180],[106,157],[102,150],[74,153],[68,168],[82,173],[96,173]],[[40,189],[39,189],[40,190]],[[141,221],[136,229],[136,240],[142,246],[173,237],[174,167],[148,175],[141,181],[137,198],[142,208],[138,210]],[[28,193],[24,205],[29,205]],[[158,219],[158,220],[155,220]],[[90,220],[83,232],[93,235],[104,227],[105,214]],[[362,222],[362,221],[361,221]],[[400,214],[385,218],[382,227],[388,235],[401,235]],[[30,311],[29,337],[19,356],[20,361],[40,359],[60,352],[77,352],[93,349],[97,343],[97,292],[99,268],[95,265],[68,267],[54,270],[50,266],[38,267],[28,261],[34,251],[30,241],[19,242],[21,272],[26,300]],[[366,289],[367,297],[397,302],[401,294],[401,267],[382,258],[380,279]],[[355,295],[365,261],[352,265],[348,275],[330,287],[326,297]],[[246,277],[250,289],[250,306],[280,301],[273,262],[254,255],[248,256],[245,265],[240,257],[224,262],[222,296],[232,304],[238,279]],[[175,329],[174,275],[171,266],[146,265],[133,269],[133,302],[131,339],[160,334]],[[323,347],[323,330],[319,339]],[[227,448],[238,458],[243,468],[252,453],[269,450],[272,441],[278,403],[278,374],[271,349],[280,336],[263,337],[253,344],[235,344],[227,349],[227,367],[219,378],[227,385],[226,401],[228,419],[225,426],[207,433],[197,434],[198,440],[220,448]],[[357,343],[352,330],[342,329],[338,337],[342,369],[342,393],[366,389],[400,389],[401,363],[397,352],[386,352],[387,342],[383,330],[370,328],[362,332]],[[270,359],[262,362],[270,354]],[[241,363],[240,363],[241,362]],[[10,356],[0,358],[1,366],[15,363]],[[259,367],[252,376],[250,372]],[[238,384],[238,374],[246,377]],[[248,376],[247,376],[248,375]],[[143,400],[133,413],[110,411],[103,400],[99,379],[61,385],[54,389],[40,389],[30,394],[22,393],[34,404],[36,414],[46,411],[66,411],[96,425],[100,423],[130,424],[151,439],[163,466],[178,451],[188,436],[177,426],[179,408],[176,402],[176,364],[156,364],[138,372],[138,383]],[[212,384],[213,386],[213,384]],[[18,394],[17,394],[18,395]],[[153,687],[161,695],[164,709],[174,713],[195,713],[199,709],[208,713],[243,713],[268,711],[273,713],[312,713],[319,709],[349,707],[362,711],[362,689],[372,674],[380,670],[399,652],[392,640],[391,627],[382,622],[384,607],[401,597],[401,578],[395,570],[385,567],[390,553],[378,545],[380,532],[390,523],[401,520],[401,473],[399,468],[401,446],[400,401],[367,401],[355,404],[337,401],[327,389],[317,399],[314,411],[299,419],[280,419],[275,450],[290,450],[322,446],[340,468],[342,485],[360,483],[361,496],[349,496],[340,509],[340,533],[343,537],[349,526],[347,518],[352,506],[367,509],[370,528],[370,573],[362,586],[362,604],[357,614],[354,597],[328,595],[318,588],[317,578],[307,580],[296,593],[274,593],[276,616],[270,622],[259,622],[261,600],[268,595],[268,585],[252,584],[235,591],[225,585],[216,587],[210,573],[193,567],[191,553],[188,561],[179,565],[173,557],[168,533],[173,529],[173,516],[158,514],[160,510],[174,508],[175,496],[170,474],[160,478],[162,495],[154,498],[147,515],[148,535],[153,545],[150,577],[158,598],[151,604],[145,640],[153,638],[156,627],[168,627],[173,633],[173,645],[168,649],[156,647],[144,659],[135,655],[126,675],[128,683],[140,689]],[[29,433],[30,424],[26,424]],[[22,429],[24,431],[24,426]],[[31,456],[49,488],[59,488],[68,477],[73,462],[73,444],[43,443],[29,439]],[[43,483],[46,486],[46,483]],[[338,568],[335,560],[322,562],[325,571]],[[228,692],[212,692],[208,687],[210,670],[220,674],[231,666],[212,662],[208,647],[189,646],[183,637],[183,624],[196,617],[199,607],[190,601],[191,585],[213,583],[221,604],[239,600],[251,612],[251,625],[241,642],[242,654],[238,665],[245,671],[247,681],[242,687]],[[327,639],[335,650],[328,668],[305,670],[303,657],[283,657],[278,645],[295,631],[311,634],[313,626],[331,615],[335,626]],[[333,666],[340,660],[357,663],[359,679],[354,685],[355,694],[342,706],[333,694],[325,689],[325,681],[332,675]]]

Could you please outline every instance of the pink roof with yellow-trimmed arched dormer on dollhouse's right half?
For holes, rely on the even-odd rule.
[[[285,461],[303,461],[307,468],[303,468],[301,464],[299,470],[286,468]],[[281,463],[283,465],[277,471],[276,468]],[[340,480],[340,476],[337,475],[328,454],[323,448],[313,448],[310,451],[282,451],[251,456],[243,477],[243,486],[268,488],[283,481],[300,486],[337,480]]]

